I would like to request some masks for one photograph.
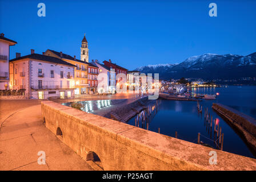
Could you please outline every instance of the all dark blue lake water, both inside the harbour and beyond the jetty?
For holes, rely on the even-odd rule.
[[[202,100],[203,108],[208,107],[210,115],[213,119],[217,118],[219,126],[222,127],[224,133],[223,151],[232,152],[234,154],[255,158],[255,154],[250,151],[242,138],[211,109],[213,102],[218,102],[234,109],[237,109],[251,117],[256,118],[256,86],[223,86],[221,88],[194,88],[192,93],[216,94],[219,93],[217,100]],[[131,118],[128,123],[135,125],[135,118]],[[142,123],[139,123],[142,127]],[[143,126],[146,128],[146,126]],[[197,102],[194,101],[170,101],[162,100],[159,105],[158,113],[155,114],[149,122],[149,130],[175,137],[175,131],[178,132],[178,138],[189,142],[197,143],[197,134],[201,133],[201,141],[209,144],[214,148],[218,148],[213,141],[217,139],[213,129],[205,122],[204,109],[202,114],[198,113]],[[214,128],[214,124],[213,124]]]

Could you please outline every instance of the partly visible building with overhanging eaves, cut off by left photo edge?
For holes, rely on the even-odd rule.
[[[10,46],[17,42],[5,38],[4,34],[0,35],[0,90],[10,89],[9,87],[9,55]]]

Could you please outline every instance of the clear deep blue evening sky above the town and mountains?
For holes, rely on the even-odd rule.
[[[46,17],[37,5],[46,5]],[[218,17],[209,16],[217,3]],[[18,42],[11,47],[62,51],[80,58],[83,33],[89,59],[127,69],[181,63],[203,53],[256,52],[256,1],[11,1],[0,0],[0,31]]]

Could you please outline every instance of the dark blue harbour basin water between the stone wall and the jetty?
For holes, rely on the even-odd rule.
[[[198,143],[197,136],[200,133],[199,142],[216,149],[221,148],[222,133],[224,133],[223,151],[255,158],[236,131],[211,109],[212,103],[213,101],[210,100],[202,100],[199,106],[200,110],[202,106],[200,112],[197,102],[194,101],[162,100],[161,104],[158,101],[158,104],[155,102],[149,105],[128,123],[156,133],[161,129],[161,134],[170,137],[177,135],[179,139],[194,143]]]

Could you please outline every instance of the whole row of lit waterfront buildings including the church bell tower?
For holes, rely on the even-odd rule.
[[[14,40],[0,36],[0,90],[23,90],[28,98],[73,97],[79,94],[115,93],[116,85],[122,78],[119,73],[127,77],[127,82],[133,83],[133,73],[109,61],[99,63],[91,60],[89,63],[89,49],[86,37],[83,37],[81,59],[63,52],[47,49],[42,54],[35,53],[21,56],[16,53],[15,59],[9,60],[10,46],[17,44]],[[101,80],[98,75],[105,73],[107,81],[101,90],[97,89]]]

